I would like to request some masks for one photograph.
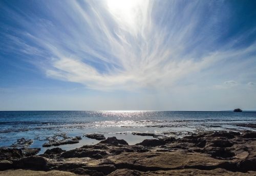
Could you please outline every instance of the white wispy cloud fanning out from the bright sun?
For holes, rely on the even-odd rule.
[[[18,38],[6,37],[19,51],[38,56],[33,63],[48,77],[89,89],[169,87],[218,68],[220,62],[255,60],[250,56],[255,43],[238,50],[233,48],[242,40],[238,37],[220,45],[223,14],[231,16],[221,11],[224,3],[109,0],[42,5],[49,13],[44,17],[10,12],[26,30],[19,31]],[[215,10],[206,13],[209,7]]]

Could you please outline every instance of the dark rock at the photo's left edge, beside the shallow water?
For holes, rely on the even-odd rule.
[[[23,157],[22,149],[0,148],[0,160],[17,160]]]

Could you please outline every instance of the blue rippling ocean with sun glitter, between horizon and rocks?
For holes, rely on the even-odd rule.
[[[43,153],[48,147],[42,147],[42,144],[54,135],[82,137],[77,144],[59,146],[73,149],[99,142],[84,137],[84,134],[116,136],[129,144],[136,144],[153,138],[132,135],[136,132],[182,137],[202,130],[254,130],[238,126],[250,123],[256,123],[256,112],[10,111],[0,112],[0,147],[25,138],[33,140],[30,147],[40,147],[40,153]]]

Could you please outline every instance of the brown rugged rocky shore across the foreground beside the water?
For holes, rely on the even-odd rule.
[[[156,136],[136,145],[111,137],[69,151],[37,150],[0,148],[0,175],[256,175],[255,131]]]

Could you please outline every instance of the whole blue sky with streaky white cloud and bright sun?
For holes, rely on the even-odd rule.
[[[256,110],[256,1],[0,1],[0,111]]]

